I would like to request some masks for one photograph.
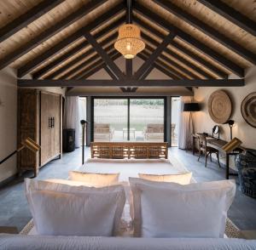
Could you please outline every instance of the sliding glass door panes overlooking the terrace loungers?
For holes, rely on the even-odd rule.
[[[94,98],[94,141],[165,141],[165,99]]]

